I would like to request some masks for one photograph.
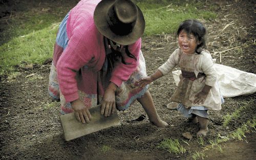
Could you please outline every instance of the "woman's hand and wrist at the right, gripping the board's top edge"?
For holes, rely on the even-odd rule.
[[[110,116],[116,109],[116,85],[110,82],[108,88],[106,88],[103,99],[101,101],[101,115],[105,117]]]

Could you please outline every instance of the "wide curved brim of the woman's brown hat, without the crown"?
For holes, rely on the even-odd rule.
[[[117,35],[113,33],[106,21],[106,15],[109,8],[114,4],[115,0],[103,0],[95,8],[94,11],[94,24],[98,31],[105,37],[122,45],[128,45],[136,42],[144,33],[145,20],[141,10],[138,8],[138,17],[131,33],[127,35]]]

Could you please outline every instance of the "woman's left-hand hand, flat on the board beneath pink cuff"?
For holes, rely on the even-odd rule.
[[[92,119],[89,109],[83,104],[80,99],[71,102],[77,121],[82,123],[89,123]]]

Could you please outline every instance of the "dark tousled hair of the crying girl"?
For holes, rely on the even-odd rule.
[[[193,34],[197,41],[201,42],[197,45],[196,53],[200,54],[203,49],[206,49],[205,34],[206,29],[204,25],[196,19],[187,19],[181,22],[176,36],[179,37],[181,31],[186,32],[188,35]]]

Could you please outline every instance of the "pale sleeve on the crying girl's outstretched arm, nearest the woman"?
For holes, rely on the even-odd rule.
[[[179,49],[176,49],[173,54],[171,54],[168,60],[158,67],[158,70],[163,74],[166,75],[169,72],[173,71],[173,68],[178,64],[179,59]]]

